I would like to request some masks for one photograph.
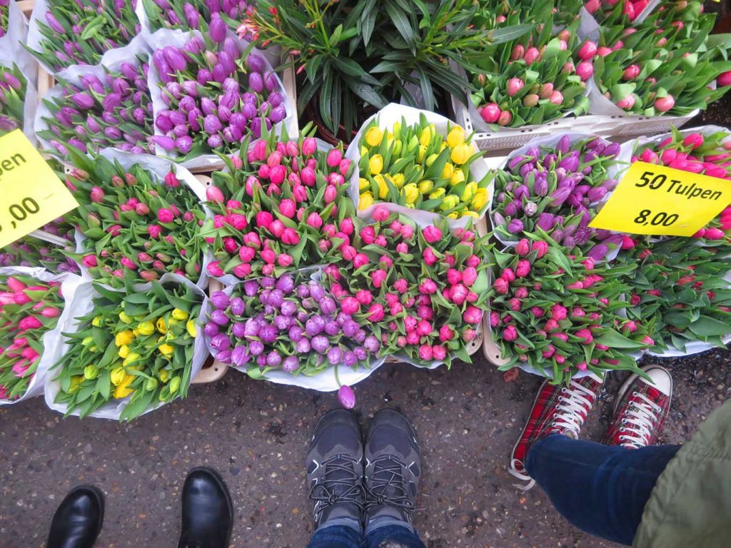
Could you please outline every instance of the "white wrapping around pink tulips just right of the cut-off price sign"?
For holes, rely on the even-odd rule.
[[[200,199],[200,202],[202,204],[202,208],[205,211],[205,216],[207,218],[213,218],[213,213],[211,213],[211,210],[208,209],[208,206],[205,205],[205,202],[207,201],[205,197],[205,185],[201,183],[195,176],[186,170],[184,167],[181,167],[178,164],[174,164],[170,160],[158,158],[156,156],[150,156],[149,154],[133,154],[129,152],[123,152],[118,151],[116,149],[107,148],[104,152],[102,152],[101,156],[104,156],[106,159],[110,161],[118,161],[119,164],[124,167],[124,169],[129,170],[130,167],[132,167],[135,164],[139,164],[141,167],[145,168],[149,173],[154,174],[154,178],[156,179],[156,182],[158,184],[164,184],[163,180],[165,178],[165,175],[167,175],[168,172],[171,170],[175,172],[175,177],[178,178],[178,180],[183,183],[184,186],[186,186],[190,191],[192,191],[195,196]],[[83,253],[83,242],[86,240],[86,236],[83,235],[83,233],[76,229],[75,231],[75,240],[76,240],[76,252],[77,253]],[[203,289],[205,286],[208,286],[208,263],[211,262],[211,251],[208,248],[204,248],[201,251],[201,265],[200,265],[200,278],[194,284],[199,288]],[[84,277],[86,279],[91,279],[91,277],[88,274],[88,269],[84,265],[79,265],[81,267],[81,270],[84,274]],[[166,273],[163,274],[161,277],[161,280],[166,275],[173,275],[172,273]],[[135,290],[141,291],[141,287],[143,286],[149,286],[148,283],[140,283],[137,286],[135,286]]]

